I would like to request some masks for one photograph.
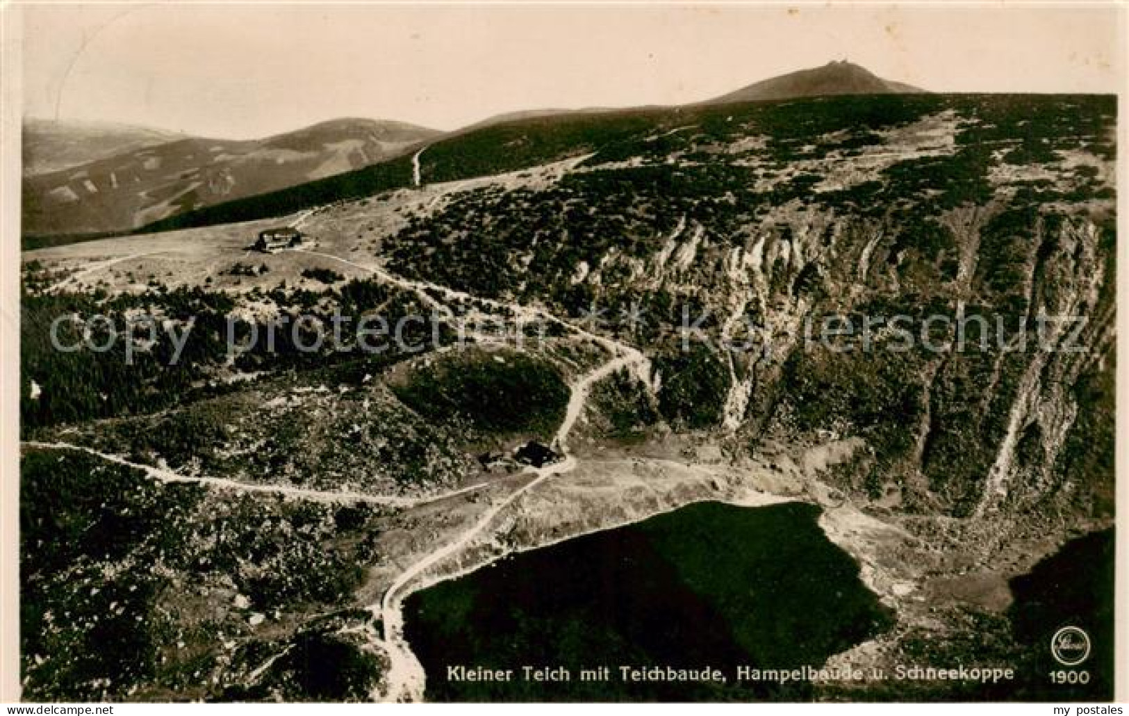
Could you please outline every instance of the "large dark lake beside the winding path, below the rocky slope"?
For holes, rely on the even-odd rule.
[[[819,667],[891,623],[820,508],[699,503],[513,555],[412,594],[405,630],[429,700],[803,699],[806,688],[735,682],[736,666]],[[448,665],[513,669],[509,682],[448,680]],[[522,666],[563,665],[567,682]],[[709,682],[624,681],[621,665],[702,669]],[[610,666],[607,681],[580,669]]]

